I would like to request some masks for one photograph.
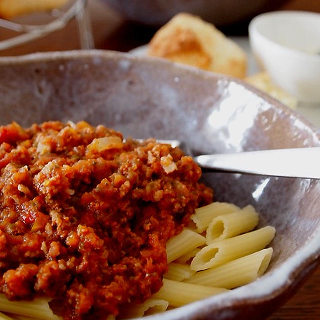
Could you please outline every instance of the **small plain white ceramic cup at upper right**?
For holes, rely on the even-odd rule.
[[[320,14],[277,11],[249,24],[251,49],[272,80],[303,102],[320,105]]]

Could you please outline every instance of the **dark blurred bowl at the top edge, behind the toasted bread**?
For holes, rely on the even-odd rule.
[[[104,0],[128,19],[160,26],[179,12],[189,12],[215,25],[227,25],[275,9],[287,0]],[[275,1],[273,1],[275,2]]]

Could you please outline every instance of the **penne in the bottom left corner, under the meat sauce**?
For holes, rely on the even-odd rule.
[[[8,301],[4,294],[0,294],[0,310],[36,319],[60,320],[60,317],[53,314],[47,300],[40,298],[33,301]]]

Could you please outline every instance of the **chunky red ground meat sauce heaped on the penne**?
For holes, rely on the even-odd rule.
[[[0,127],[0,288],[65,319],[117,314],[162,285],[165,243],[212,201],[178,148],[102,125]]]

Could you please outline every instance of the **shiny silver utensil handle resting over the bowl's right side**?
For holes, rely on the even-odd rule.
[[[320,179],[320,147],[206,154],[194,160],[220,171]]]

